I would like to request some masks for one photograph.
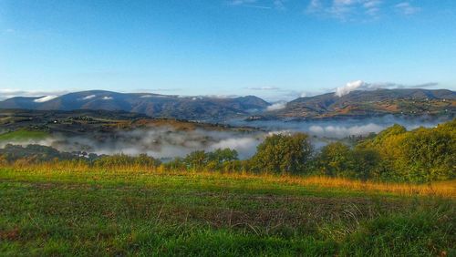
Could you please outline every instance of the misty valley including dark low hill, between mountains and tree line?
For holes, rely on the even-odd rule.
[[[366,137],[400,124],[408,129],[431,128],[451,116],[394,116],[376,118],[325,118],[310,120],[229,119],[204,123],[174,118],[105,110],[42,111],[0,110],[7,144],[38,144],[65,152],[98,155],[147,154],[157,159],[185,157],[197,150],[235,149],[240,159],[251,158],[257,146],[273,134],[304,132],[315,149],[329,142]]]

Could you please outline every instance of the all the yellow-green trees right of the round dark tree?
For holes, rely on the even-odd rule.
[[[456,178],[455,124],[456,119],[412,131],[396,124],[354,148],[330,143],[316,156],[316,168],[328,176],[360,180],[451,180]]]

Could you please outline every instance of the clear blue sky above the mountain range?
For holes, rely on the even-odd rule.
[[[0,98],[454,90],[455,68],[454,0],[0,0]]]

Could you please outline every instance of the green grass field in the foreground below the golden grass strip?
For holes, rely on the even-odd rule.
[[[0,255],[455,256],[454,207],[261,176],[0,168]]]

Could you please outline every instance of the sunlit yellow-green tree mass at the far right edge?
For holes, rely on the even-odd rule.
[[[377,137],[359,143],[356,149],[378,153],[377,161],[368,165],[374,168],[375,174],[370,176],[373,178],[414,182],[451,180],[456,176],[455,124],[453,119],[437,128],[412,131],[394,125]]]

